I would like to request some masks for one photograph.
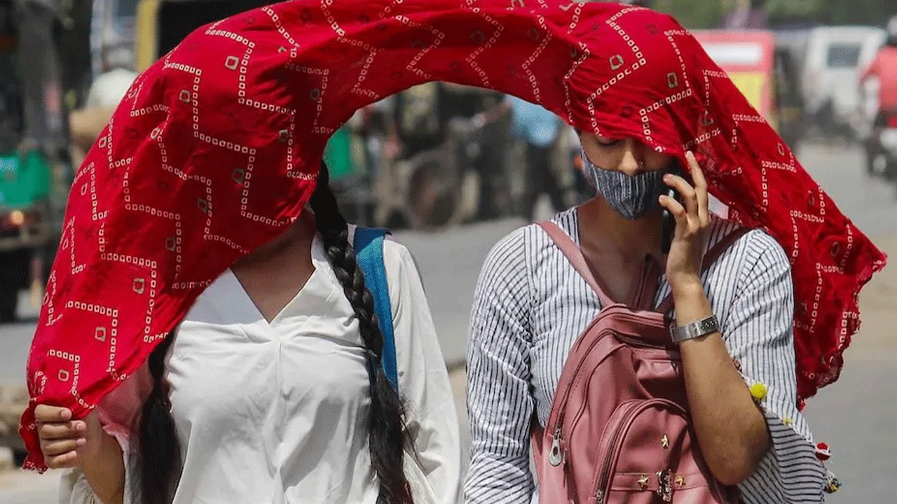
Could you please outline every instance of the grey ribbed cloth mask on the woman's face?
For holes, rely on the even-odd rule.
[[[599,168],[588,159],[585,150],[580,152],[589,182],[605,198],[607,204],[624,218],[640,219],[660,204],[658,198],[666,189],[665,170],[655,169],[627,175],[615,169]]]

